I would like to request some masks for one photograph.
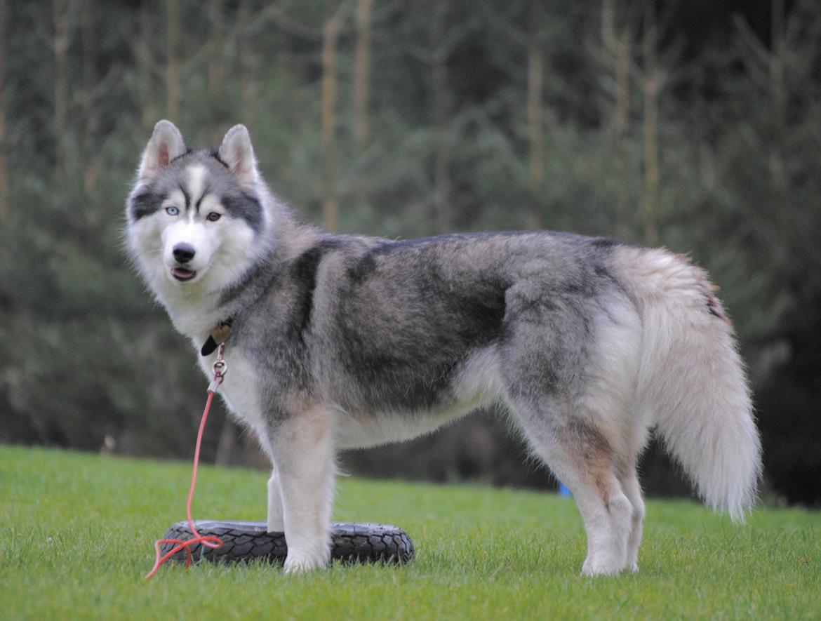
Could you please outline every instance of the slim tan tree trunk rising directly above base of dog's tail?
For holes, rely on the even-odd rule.
[[[644,0],[644,242],[658,244],[658,39],[654,0]]]

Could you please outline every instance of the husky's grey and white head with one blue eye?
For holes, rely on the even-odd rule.
[[[155,290],[234,282],[259,253],[268,218],[244,126],[218,150],[190,150],[172,122],[157,123],[126,205],[127,244]]]

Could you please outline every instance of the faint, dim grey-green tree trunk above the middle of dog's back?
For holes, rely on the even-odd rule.
[[[433,4],[431,25],[431,77],[433,81],[433,118],[436,125],[436,153],[433,163],[433,205],[439,232],[451,228],[451,145],[450,92],[448,90],[447,2]]]

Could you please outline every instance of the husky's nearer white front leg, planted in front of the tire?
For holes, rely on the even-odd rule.
[[[333,416],[324,408],[313,408],[277,422],[272,431],[271,448],[288,545],[285,571],[325,567],[331,558],[336,473]],[[270,482],[268,485],[270,493]]]

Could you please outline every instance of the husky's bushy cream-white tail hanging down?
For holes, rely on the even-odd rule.
[[[686,256],[621,247],[643,342],[636,405],[711,507],[735,522],[754,504],[761,443],[732,324]]]

